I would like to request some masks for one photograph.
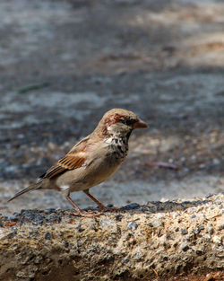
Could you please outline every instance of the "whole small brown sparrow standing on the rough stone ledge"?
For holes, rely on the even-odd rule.
[[[39,177],[37,183],[18,192],[13,200],[35,189],[61,191],[78,215],[94,216],[84,212],[70,198],[73,191],[83,191],[101,210],[112,210],[90,194],[90,188],[107,180],[124,162],[128,152],[128,139],[134,128],[148,127],[132,111],[114,109],[105,113],[98,126]],[[8,201],[8,202],[9,202]]]

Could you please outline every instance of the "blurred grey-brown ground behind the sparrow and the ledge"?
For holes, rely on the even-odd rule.
[[[224,190],[223,1],[1,0],[0,19],[1,213],[70,208],[51,191],[6,200],[115,107],[150,127],[94,196],[122,206]]]

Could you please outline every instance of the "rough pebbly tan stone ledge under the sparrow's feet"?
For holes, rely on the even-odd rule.
[[[223,202],[221,193],[97,218],[56,209],[1,216],[0,280],[222,280]]]

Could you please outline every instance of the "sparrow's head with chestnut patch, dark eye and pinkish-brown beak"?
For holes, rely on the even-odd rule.
[[[104,136],[130,136],[135,128],[143,127],[148,126],[134,112],[113,109],[104,114],[97,128]]]

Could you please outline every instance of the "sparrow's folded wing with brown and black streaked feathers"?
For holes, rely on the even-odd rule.
[[[89,136],[86,136],[78,144],[74,145],[70,152],[66,154],[65,157],[58,160],[46,173],[40,176],[40,179],[52,179],[65,171],[82,167],[84,162],[86,162],[87,154],[85,151],[90,145],[88,144],[89,139]]]

